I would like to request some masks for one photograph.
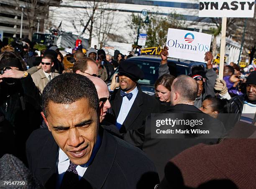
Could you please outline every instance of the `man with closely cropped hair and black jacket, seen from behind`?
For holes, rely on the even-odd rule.
[[[141,148],[155,163],[160,180],[164,177],[165,163],[169,161],[170,158],[173,158],[183,150],[191,146],[195,146],[198,143],[217,143],[218,138],[221,138],[225,132],[225,128],[220,121],[215,120],[214,118],[203,113],[201,110],[194,106],[194,102],[197,97],[197,91],[198,86],[195,79],[187,75],[179,75],[176,79],[174,79],[171,86],[172,107],[169,110],[161,113],[165,114],[164,117],[171,117],[171,119],[179,119],[179,117],[177,117],[179,115],[181,115],[181,117],[186,117],[186,114],[189,114],[189,119],[193,120],[199,119],[198,117],[203,116],[203,123],[206,124],[202,125],[202,127],[206,127],[208,129],[208,125],[210,125],[209,127],[212,127],[212,125],[214,125],[213,132],[211,133],[214,134],[214,137],[210,137],[209,135],[209,139],[202,138],[200,136],[197,136],[197,138],[195,138],[194,135],[192,135],[192,137],[182,135],[180,138],[155,139],[151,136],[151,127],[156,127],[156,125],[151,125],[151,116],[146,119],[145,131],[143,133],[144,138],[141,143]],[[163,119],[163,115],[154,115],[154,120],[161,119]],[[166,127],[166,129],[169,129],[169,127]],[[133,135],[135,134],[141,135],[141,133],[138,132],[133,133]]]

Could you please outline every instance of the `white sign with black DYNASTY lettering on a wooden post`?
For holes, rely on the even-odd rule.
[[[254,0],[199,0],[199,17],[253,18]]]

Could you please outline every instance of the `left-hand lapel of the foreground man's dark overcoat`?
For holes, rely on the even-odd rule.
[[[56,184],[57,166],[56,160],[59,146],[56,144],[52,135],[47,139],[44,148],[42,149],[41,158],[38,162],[41,182],[44,186],[54,188]],[[54,184],[54,186],[52,185]]]

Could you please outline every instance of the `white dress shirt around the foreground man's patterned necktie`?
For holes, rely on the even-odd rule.
[[[67,156],[66,153],[64,153],[64,151],[61,150],[61,148],[59,148],[59,158],[57,159],[57,163],[58,163],[58,181],[57,181],[57,187],[56,188],[60,188],[61,186],[61,181],[63,179],[63,176],[65,174],[65,172],[67,171],[67,169],[69,168],[69,157]],[[79,176],[79,180],[82,178],[82,176],[84,175],[85,171],[87,169],[87,165],[83,164],[83,165],[78,165],[76,170]]]

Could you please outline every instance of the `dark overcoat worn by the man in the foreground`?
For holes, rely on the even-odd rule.
[[[106,131],[100,133],[101,146],[76,188],[154,188],[159,183],[154,164],[140,149]],[[53,136],[45,128],[35,130],[28,138],[29,169],[46,188],[56,186],[58,151]]]

